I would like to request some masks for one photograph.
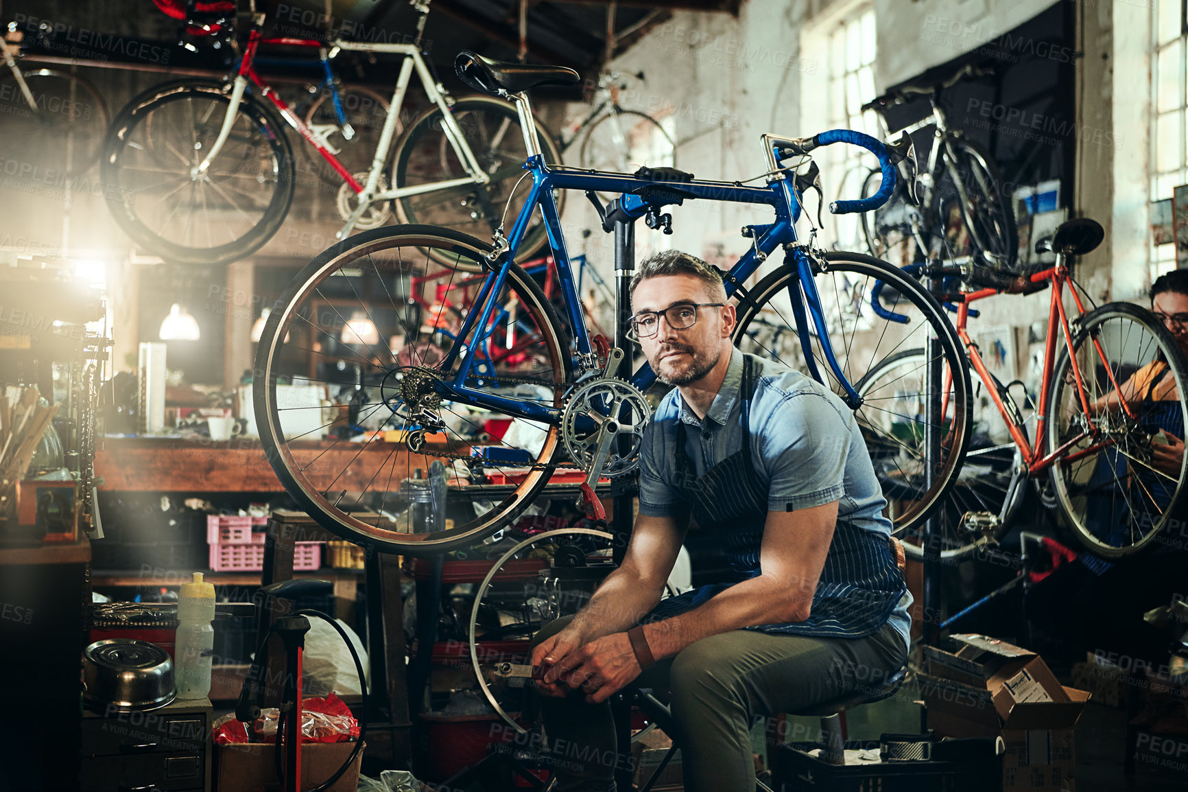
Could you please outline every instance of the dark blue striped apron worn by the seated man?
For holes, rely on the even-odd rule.
[[[676,488],[702,530],[721,536],[734,580],[712,584],[664,599],[645,621],[659,621],[693,610],[714,595],[759,574],[759,549],[767,520],[767,486],[751,463],[751,362],[742,365],[742,448],[700,478],[684,451],[685,432],[676,423]],[[823,637],[872,635],[887,621],[906,590],[885,534],[839,520],[833,542],[804,622],[762,624],[745,629]]]

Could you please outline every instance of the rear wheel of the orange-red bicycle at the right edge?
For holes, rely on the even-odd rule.
[[[1144,333],[1136,338],[1138,333]],[[1178,344],[1150,312],[1131,303],[1101,306],[1080,321],[1073,337],[1078,354],[1078,367],[1091,401],[1110,392],[1112,384],[1100,365],[1094,344],[1101,344],[1110,372],[1119,384],[1124,383],[1126,370],[1155,362],[1162,356],[1171,366],[1171,376],[1178,392],[1181,415],[1188,414],[1188,363]],[[1086,366],[1092,362],[1092,369]],[[1118,411],[1105,419],[1087,419],[1080,407],[1075,384],[1068,383],[1072,358],[1067,348],[1061,351],[1053,369],[1053,384],[1048,400],[1048,447],[1060,448],[1080,432],[1075,423],[1092,420],[1100,428],[1106,422],[1106,441],[1097,452],[1087,453],[1072,463],[1059,460],[1050,469],[1053,494],[1060,507],[1064,526],[1078,542],[1091,553],[1108,560],[1137,555],[1159,546],[1161,534],[1170,526],[1182,527],[1180,513],[1186,503],[1188,459],[1181,463],[1180,476],[1174,482],[1157,473],[1149,464],[1151,434],[1142,423],[1127,420]],[[1092,376],[1091,376],[1092,373]],[[1066,403],[1067,402],[1067,403]],[[1144,402],[1136,404],[1138,411]],[[1110,435],[1120,436],[1110,444]],[[1093,445],[1081,440],[1069,453],[1092,451]],[[1116,451],[1117,450],[1117,451]],[[1170,490],[1170,491],[1169,491]],[[1121,503],[1119,503],[1119,496]],[[1165,499],[1161,504],[1158,501]],[[1149,503],[1148,503],[1149,501]],[[1173,540],[1180,542],[1181,540]]]

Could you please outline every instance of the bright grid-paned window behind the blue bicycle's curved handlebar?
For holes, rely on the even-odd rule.
[[[876,138],[880,137],[873,111],[862,113],[862,105],[874,99],[874,10],[860,6],[829,30],[828,76],[824,101],[824,122],[815,124],[808,132],[845,128],[858,130]],[[819,127],[819,128],[816,128]],[[821,182],[827,196],[857,199],[861,196],[862,181],[878,161],[866,151],[851,145],[833,145],[822,150],[817,158],[821,164]],[[814,196],[815,197],[815,196]],[[827,197],[827,202],[828,199]],[[809,210],[815,212],[813,201]],[[859,215],[829,215],[826,220],[826,241],[838,250],[866,252],[866,241],[859,224]],[[816,218],[814,216],[814,220]],[[832,226],[832,227],[830,227]],[[832,232],[832,239],[828,237]]]

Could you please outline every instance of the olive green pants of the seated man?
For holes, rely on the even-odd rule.
[[[561,631],[550,622],[535,647]],[[671,691],[685,792],[754,792],[751,723],[878,685],[906,658],[890,624],[865,639],[734,630],[702,639],[642,673],[634,687]],[[586,694],[538,696],[561,792],[614,792],[611,704]]]

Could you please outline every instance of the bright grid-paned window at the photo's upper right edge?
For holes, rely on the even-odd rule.
[[[1188,184],[1188,19],[1184,0],[1151,4],[1151,201],[1171,197]],[[1175,269],[1176,246],[1151,249],[1151,279]]]

